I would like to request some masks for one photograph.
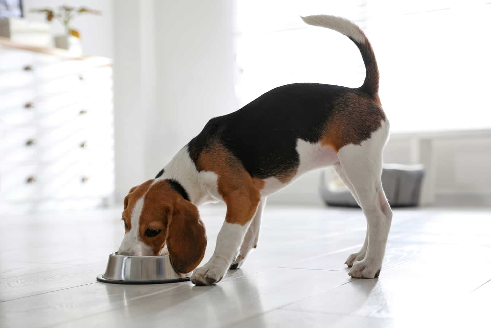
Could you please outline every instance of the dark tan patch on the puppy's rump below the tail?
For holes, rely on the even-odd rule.
[[[334,104],[321,144],[335,152],[350,143],[359,145],[372,132],[377,131],[385,120],[378,95],[374,99],[355,93],[347,94]]]

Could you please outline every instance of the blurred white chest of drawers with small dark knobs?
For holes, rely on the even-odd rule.
[[[114,191],[112,62],[0,37],[0,211],[91,208]]]

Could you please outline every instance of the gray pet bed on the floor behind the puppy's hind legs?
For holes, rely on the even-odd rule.
[[[423,165],[385,164],[382,169],[382,186],[392,207],[417,206],[423,181]],[[321,196],[329,206],[356,207],[351,192],[339,182],[334,170],[321,174]]]

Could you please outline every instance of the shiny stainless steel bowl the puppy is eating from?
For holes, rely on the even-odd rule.
[[[118,252],[109,254],[106,272],[98,281],[113,284],[161,284],[189,280],[190,273],[177,273],[170,264],[169,255],[126,256]]]

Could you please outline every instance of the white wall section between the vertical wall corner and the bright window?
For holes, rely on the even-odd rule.
[[[157,106],[149,131],[154,174],[206,122],[238,109],[234,1],[156,1]]]

